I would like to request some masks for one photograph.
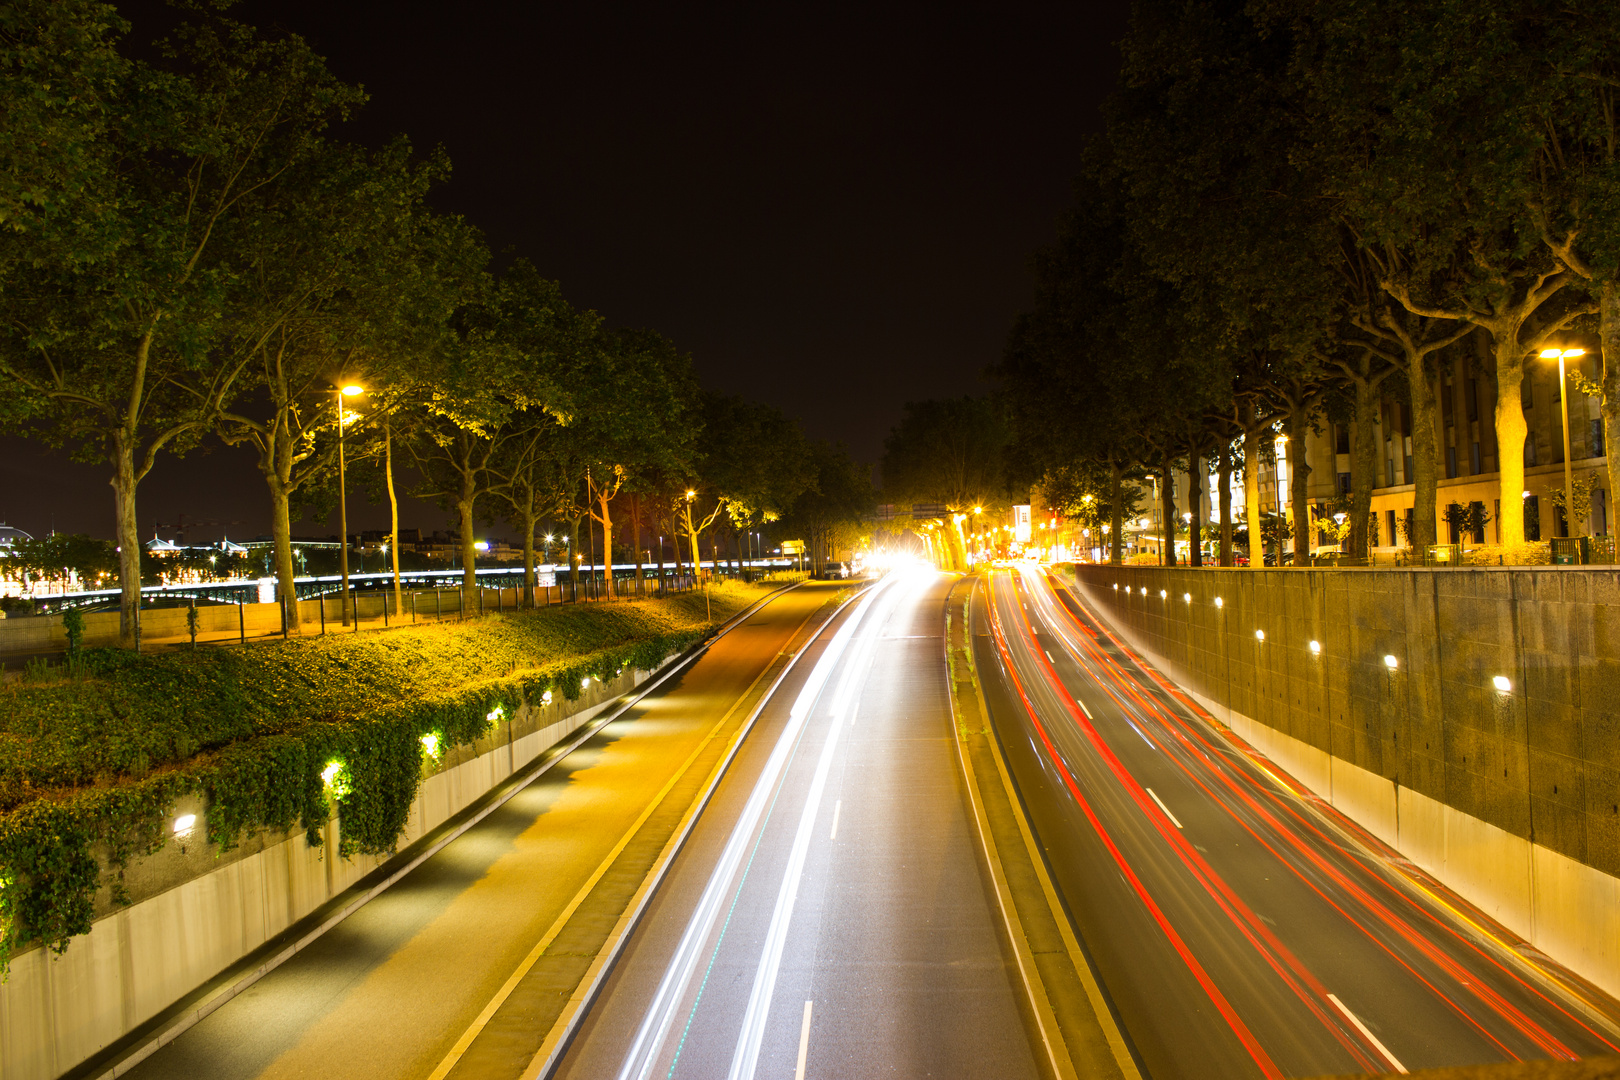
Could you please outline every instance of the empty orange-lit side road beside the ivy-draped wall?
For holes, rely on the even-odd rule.
[[[808,585],[766,604],[502,808],[133,1075],[429,1075],[564,915],[593,868],[625,839],[598,891],[619,892],[591,892],[580,908],[582,918],[595,920],[585,929],[603,920],[612,925],[612,900],[642,879],[750,703],[770,685],[763,677],[782,669],[784,651],[802,646],[841,593],[842,586]],[[684,763],[690,766],[677,777]],[[663,789],[669,790],[664,810],[633,829]],[[593,908],[598,900],[601,910]],[[535,973],[552,978],[554,993],[523,1002],[530,1010],[515,1033],[502,1027],[505,1014],[491,1017],[483,1031],[489,1038],[475,1041],[467,1064],[480,1067],[480,1075],[517,1077],[528,1062],[525,1040],[538,1044],[544,1036],[548,1017],[561,1009],[586,960],[564,950],[544,957]]]

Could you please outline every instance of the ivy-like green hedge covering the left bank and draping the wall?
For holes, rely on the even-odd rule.
[[[718,588],[714,617],[761,593]],[[703,597],[684,596],[249,649],[94,651],[76,678],[11,683],[0,695],[0,973],[18,949],[63,952],[89,931],[102,881],[128,902],[123,868],[164,845],[178,798],[204,798],[220,850],[295,826],[319,845],[335,800],[340,853],[389,853],[424,755],[476,742],[548,690],[577,699],[585,677],[656,667],[713,628]]]

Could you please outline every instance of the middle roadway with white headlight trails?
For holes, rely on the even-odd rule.
[[[805,654],[556,1075],[1037,1075],[956,763],[949,585],[897,572]]]

